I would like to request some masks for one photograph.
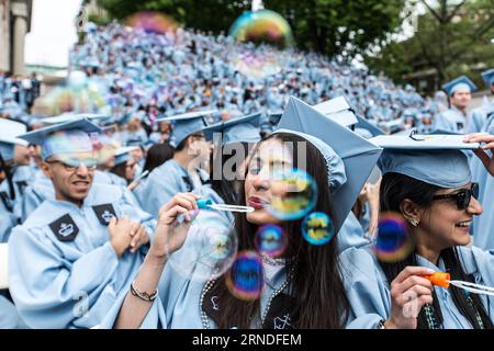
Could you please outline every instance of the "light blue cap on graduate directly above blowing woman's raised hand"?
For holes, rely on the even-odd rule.
[[[172,147],[177,147],[189,135],[201,132],[205,126],[207,126],[204,117],[216,112],[217,110],[188,112],[175,116],[156,118],[156,122],[172,123],[169,144]]]

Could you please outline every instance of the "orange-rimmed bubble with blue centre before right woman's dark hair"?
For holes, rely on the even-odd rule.
[[[402,215],[392,212],[381,214],[373,248],[378,259],[388,263],[401,261],[414,250],[414,240]]]

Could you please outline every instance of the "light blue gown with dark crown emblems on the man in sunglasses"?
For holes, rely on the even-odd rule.
[[[46,200],[12,230],[10,292],[31,328],[94,327],[127,291],[147,247],[119,259],[104,222],[112,212],[142,223],[151,237],[156,223],[130,193],[98,183],[81,207]]]

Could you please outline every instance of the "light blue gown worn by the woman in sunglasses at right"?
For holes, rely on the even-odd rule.
[[[467,274],[472,274],[475,283],[494,286],[494,256],[479,248],[459,248],[460,260]],[[422,257],[419,265],[435,271],[445,271],[442,262],[435,267]],[[391,314],[390,282],[381,270],[371,246],[351,248],[341,253],[344,283],[350,302],[349,329],[374,329],[380,320]],[[447,288],[435,287],[444,316],[445,329],[470,329],[468,320],[456,307]],[[480,295],[487,314],[494,316],[494,298]]]

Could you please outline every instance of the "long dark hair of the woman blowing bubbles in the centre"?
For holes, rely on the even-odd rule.
[[[333,216],[327,167],[323,155],[311,143],[293,134],[280,133],[267,139],[278,139],[293,143],[293,145],[306,143],[306,171],[318,186],[314,211]],[[297,167],[297,148],[293,149],[293,166]],[[239,203],[246,203],[244,191],[239,193]],[[301,223],[302,219],[285,220],[282,224],[288,237],[287,250],[283,253],[287,259],[285,268],[287,272],[293,272],[288,286],[289,295],[292,297],[290,314],[296,316],[296,319],[292,320],[292,326],[294,328],[344,328],[348,318],[349,302],[345,294],[336,236],[326,245],[310,245],[301,235]],[[237,215],[235,228],[238,233],[238,250],[254,250],[254,235],[257,226],[247,222],[245,215]],[[212,294],[218,297],[221,304],[217,327],[249,328],[251,318],[260,315],[259,299],[245,302],[234,297],[226,285],[228,273],[222,275],[212,287]]]

